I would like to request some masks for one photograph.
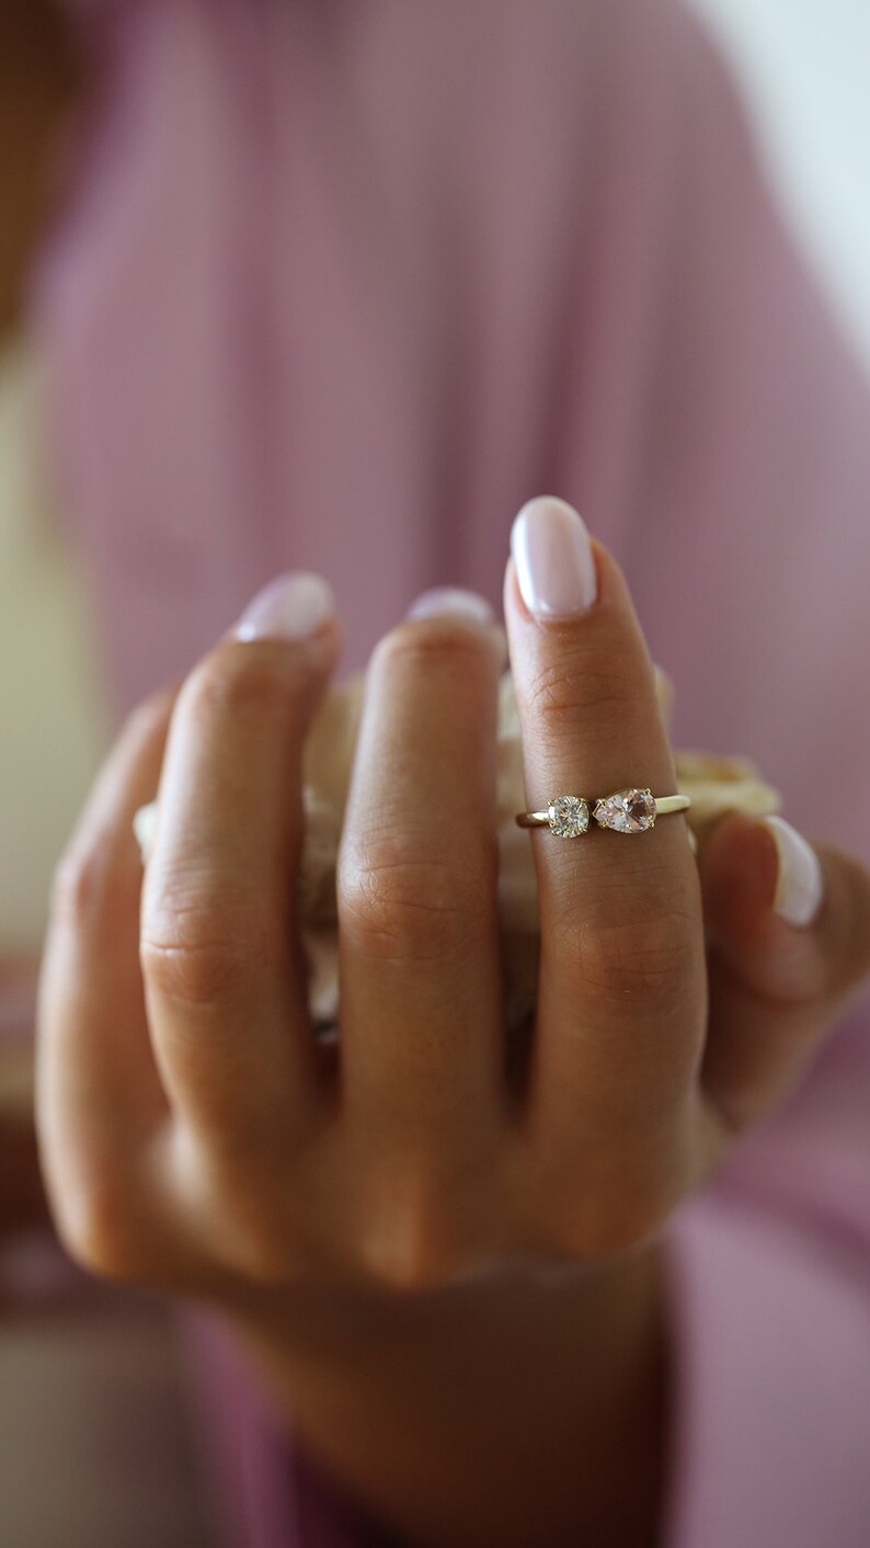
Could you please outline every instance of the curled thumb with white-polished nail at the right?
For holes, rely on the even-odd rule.
[[[870,971],[870,876],[779,817],[723,819],[700,867],[711,949],[701,1079],[740,1130],[786,1096]]]

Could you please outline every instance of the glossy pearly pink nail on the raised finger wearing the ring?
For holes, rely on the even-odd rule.
[[[528,500],[511,529],[520,594],[536,618],[570,618],[596,599],[594,556],[585,522],[565,500]]]

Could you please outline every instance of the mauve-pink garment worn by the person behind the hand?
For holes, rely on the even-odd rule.
[[[678,743],[870,853],[867,802],[817,800],[870,779],[870,398],[689,17],[79,9],[105,90],[39,316],[118,711],[285,567],[334,579],[355,661],[424,587],[495,601],[551,491],[625,565]],[[868,1119],[858,1014],[669,1229],[666,1548],[870,1542]],[[378,1542],[220,1390],[240,1543]]]

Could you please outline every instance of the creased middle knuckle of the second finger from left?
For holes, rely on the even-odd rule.
[[[190,1006],[232,1002],[283,966],[285,947],[255,907],[172,895],[149,915],[139,966],[163,997]]]

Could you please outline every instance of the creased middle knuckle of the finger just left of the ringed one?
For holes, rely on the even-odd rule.
[[[341,924],[389,961],[463,955],[489,927],[495,881],[485,859],[416,856],[407,836],[379,836],[341,870]]]

